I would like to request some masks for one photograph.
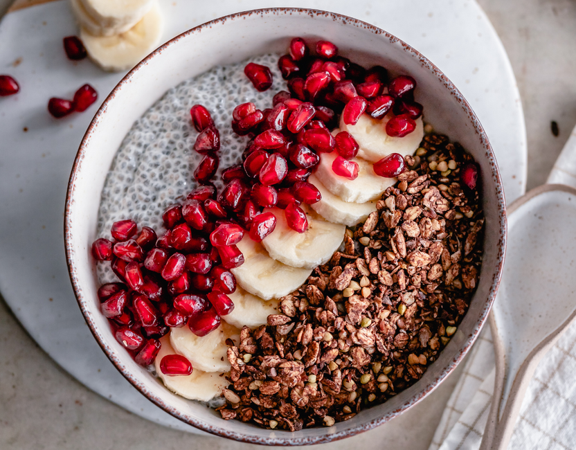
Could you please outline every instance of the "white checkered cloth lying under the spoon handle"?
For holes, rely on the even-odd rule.
[[[465,361],[429,450],[479,449],[493,392],[494,348],[487,325]],[[576,323],[540,361],[508,449],[576,449]]]

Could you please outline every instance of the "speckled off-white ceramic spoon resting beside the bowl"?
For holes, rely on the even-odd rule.
[[[576,128],[548,177],[508,208],[506,263],[489,322],[494,396],[480,450],[508,446],[540,359],[576,318]]]

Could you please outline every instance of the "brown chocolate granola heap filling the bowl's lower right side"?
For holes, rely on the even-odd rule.
[[[279,300],[282,314],[231,343],[224,419],[332,426],[422,377],[478,282],[484,218],[459,177],[471,161],[446,136],[424,137],[343,251]]]

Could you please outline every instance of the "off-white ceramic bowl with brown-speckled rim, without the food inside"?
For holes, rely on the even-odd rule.
[[[100,192],[107,171],[134,121],[179,82],[213,66],[286,51],[294,36],[310,42],[329,39],[341,55],[363,66],[381,64],[393,74],[412,75],[418,83],[417,99],[424,105],[426,121],[462,143],[480,165],[486,225],[484,262],[474,299],[449,345],[422,379],[348,421],[290,433],[224,421],[206,406],[174,395],[138,366],[114,339],[100,313],[90,248],[96,237]],[[64,230],[70,278],[82,314],[102,350],[143,395],[174,417],[215,435],[256,444],[300,445],[330,442],[372,429],[420,402],[447,377],[478,336],[496,295],[505,252],[506,218],[501,178],[484,129],[460,91],[434,64],[397,37],[365,22],[330,12],[274,8],[242,12],[192,28],[158,48],[118,83],[94,116],[78,150],[66,198]]]

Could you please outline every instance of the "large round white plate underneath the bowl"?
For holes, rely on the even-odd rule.
[[[161,0],[168,40],[205,21],[253,8],[330,9],[368,21],[413,45],[456,84],[474,107],[502,172],[507,200],[523,194],[525,126],[516,80],[494,28],[474,1],[377,2]],[[71,62],[62,37],[77,33],[66,1],[17,10],[0,22],[0,73],[21,85],[0,99],[0,291],[35,341],[73,377],[149,420],[197,432],[138,393],[114,368],[76,304],[64,258],[64,199],[78,145],[98,105],[63,120],[48,98],[71,98],[89,82],[103,100],[124,75],[88,60]],[[6,45],[6,43],[9,43]],[[12,64],[12,62],[14,62]],[[27,129],[27,132],[24,132]]]

